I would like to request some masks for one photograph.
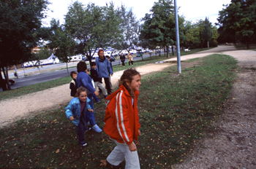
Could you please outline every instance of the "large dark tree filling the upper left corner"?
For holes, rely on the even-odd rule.
[[[37,31],[48,4],[48,0],[0,1],[0,83],[3,90],[7,88],[1,70],[31,59],[31,49],[40,39]]]

